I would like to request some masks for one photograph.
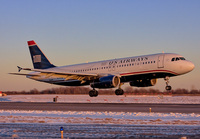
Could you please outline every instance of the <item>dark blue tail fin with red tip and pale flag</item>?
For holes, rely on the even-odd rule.
[[[35,41],[33,40],[28,41],[28,46],[31,53],[33,67],[35,69],[48,69],[48,68],[55,67],[53,64],[49,62],[49,60],[44,55],[44,53],[40,50],[40,48],[35,43]]]

